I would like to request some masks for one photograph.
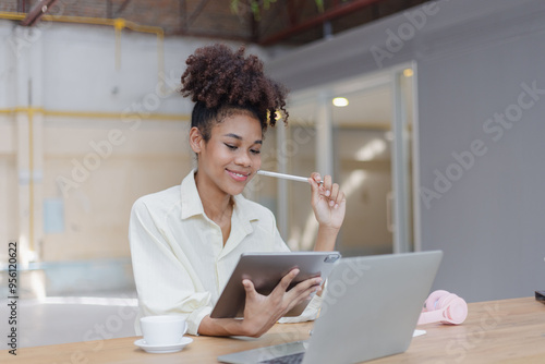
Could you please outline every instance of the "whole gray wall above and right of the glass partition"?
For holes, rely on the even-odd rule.
[[[435,288],[470,302],[545,289],[545,4],[438,1],[267,68],[295,90],[409,60],[426,193],[421,244],[445,252]]]

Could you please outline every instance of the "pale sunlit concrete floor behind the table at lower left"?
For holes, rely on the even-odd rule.
[[[136,314],[134,291],[20,300],[17,345],[28,348],[132,337],[135,336]]]

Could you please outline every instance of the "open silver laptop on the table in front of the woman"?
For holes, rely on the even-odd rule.
[[[223,363],[359,363],[404,352],[443,252],[341,258],[308,340],[218,356]]]

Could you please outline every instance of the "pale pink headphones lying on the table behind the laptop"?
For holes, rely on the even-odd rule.
[[[468,317],[468,304],[458,295],[447,291],[435,291],[424,303],[416,325],[441,323],[460,325]]]

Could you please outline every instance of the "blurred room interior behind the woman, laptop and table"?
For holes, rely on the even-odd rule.
[[[343,256],[440,248],[434,288],[532,295],[544,20],[538,0],[2,1],[0,316],[16,242],[21,347],[134,336],[131,206],[193,168],[180,76],[214,43],[245,45],[290,88],[263,169],[339,181]],[[245,194],[310,250],[308,190],[259,177]]]

